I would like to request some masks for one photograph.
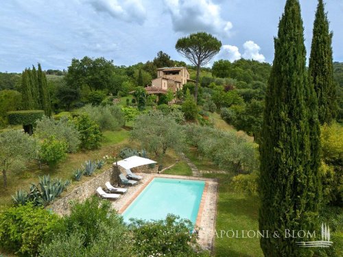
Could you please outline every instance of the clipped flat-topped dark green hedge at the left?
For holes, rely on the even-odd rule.
[[[44,115],[44,110],[19,110],[8,112],[8,121],[11,125],[32,125]]]

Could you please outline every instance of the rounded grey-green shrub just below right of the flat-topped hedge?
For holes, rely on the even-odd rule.
[[[51,136],[54,136],[56,140],[67,143],[67,151],[69,153],[75,153],[78,151],[81,141],[80,133],[71,121],[71,114],[69,112],[61,112],[58,118],[60,119],[56,121],[52,118],[43,117],[37,121],[35,135],[43,140],[48,139],[48,141],[51,140]]]

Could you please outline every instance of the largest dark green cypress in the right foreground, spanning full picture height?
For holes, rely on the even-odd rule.
[[[287,0],[274,39],[260,144],[259,230],[270,232],[260,241],[268,257],[311,256],[308,248],[296,245],[300,238],[288,237],[285,231],[317,228],[318,114],[307,79],[303,30],[298,0]]]

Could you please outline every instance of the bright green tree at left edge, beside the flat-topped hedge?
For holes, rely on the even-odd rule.
[[[21,93],[16,90],[0,91],[0,119],[7,123],[7,113],[21,108]],[[5,125],[5,124],[3,124]],[[0,122],[1,127],[1,122]]]

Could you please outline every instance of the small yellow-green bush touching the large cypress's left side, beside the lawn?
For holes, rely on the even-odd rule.
[[[232,185],[235,191],[248,193],[250,195],[257,195],[257,184],[259,177],[257,173],[239,174],[233,177]]]

